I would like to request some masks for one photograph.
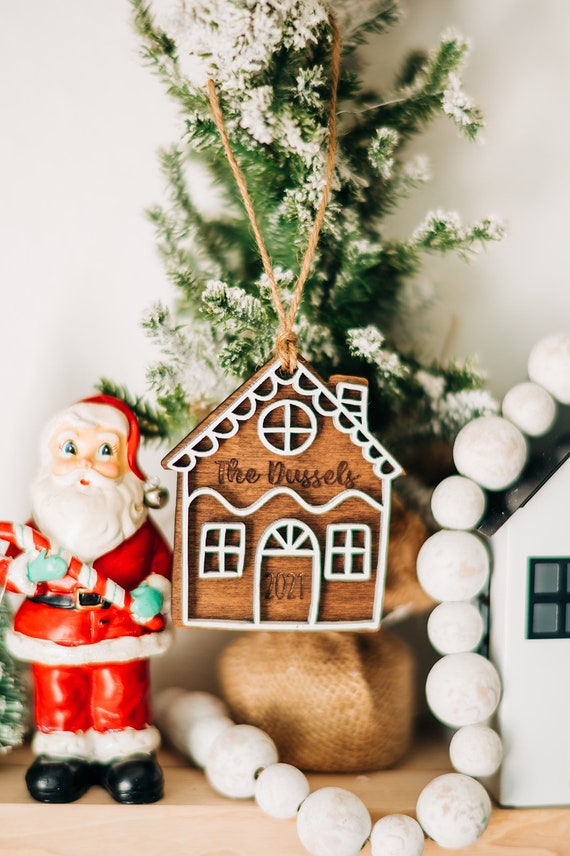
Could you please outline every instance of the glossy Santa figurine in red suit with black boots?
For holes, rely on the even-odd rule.
[[[138,445],[132,411],[105,395],[59,413],[42,438],[31,525],[51,549],[9,565],[9,588],[26,597],[7,640],[32,664],[37,758],[26,783],[41,802],[71,802],[92,784],[121,803],[163,794],[149,657],[170,642],[171,552],[148,516]],[[58,549],[129,592],[130,607],[82,587]]]

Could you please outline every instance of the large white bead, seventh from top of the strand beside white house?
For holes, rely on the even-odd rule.
[[[447,654],[432,666],[426,699],[445,725],[477,725],[496,710],[501,694],[497,670],[480,654]]]

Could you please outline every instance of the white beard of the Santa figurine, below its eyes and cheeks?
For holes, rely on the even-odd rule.
[[[81,480],[89,484],[81,484]],[[32,485],[32,513],[54,546],[87,564],[129,538],[144,522],[144,490],[134,473],[109,479],[93,470],[40,474]]]

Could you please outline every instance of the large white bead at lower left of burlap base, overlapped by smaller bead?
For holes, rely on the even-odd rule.
[[[255,777],[279,760],[273,740],[254,725],[234,725],[214,741],[205,767],[208,781],[218,793],[249,799]]]

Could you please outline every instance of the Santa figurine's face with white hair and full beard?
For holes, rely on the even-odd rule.
[[[92,563],[130,537],[146,517],[140,479],[116,426],[60,423],[32,486],[34,520],[53,542]]]

